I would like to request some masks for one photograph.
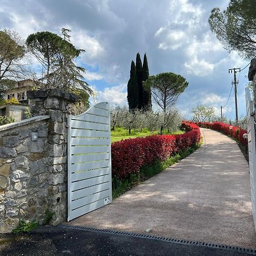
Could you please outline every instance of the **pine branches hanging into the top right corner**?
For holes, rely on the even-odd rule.
[[[230,0],[226,10],[214,8],[210,29],[229,51],[236,50],[251,59],[256,51],[255,0]]]

